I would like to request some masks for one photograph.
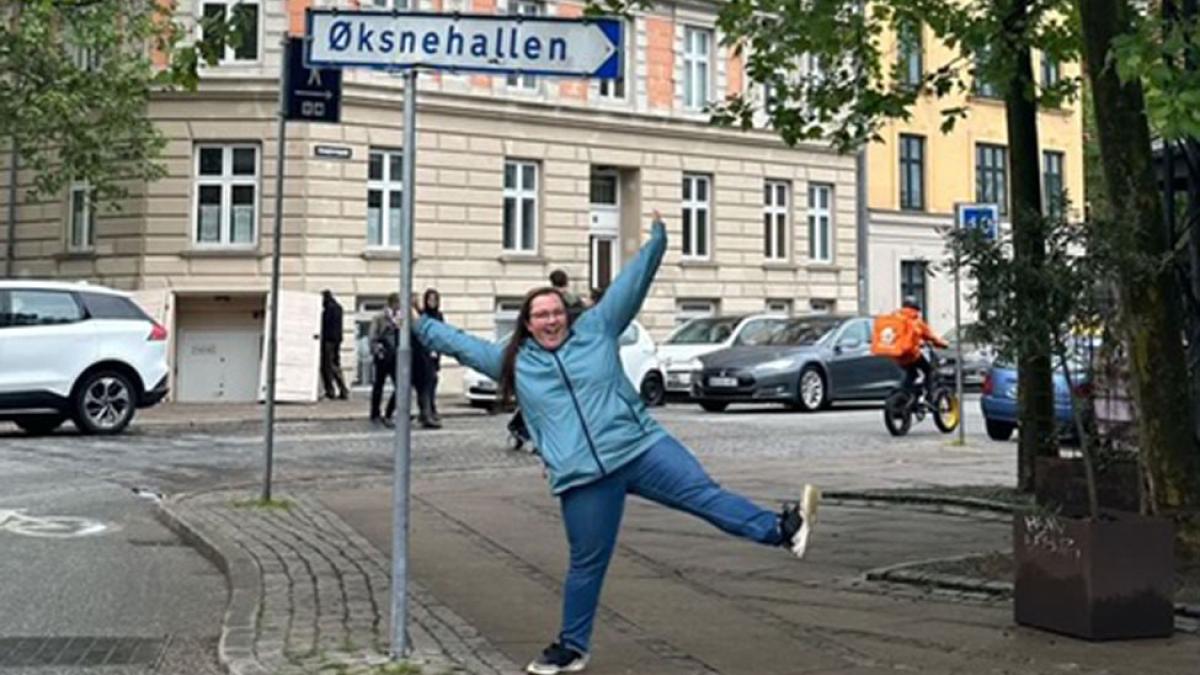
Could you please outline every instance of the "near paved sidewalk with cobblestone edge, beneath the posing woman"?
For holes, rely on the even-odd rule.
[[[768,502],[778,492],[762,480],[731,486]],[[229,561],[223,661],[236,674],[292,675],[379,659],[390,483],[281,490],[290,509],[235,508],[232,492],[166,507]],[[520,673],[557,631],[566,566],[558,507],[538,471],[414,476],[410,530],[422,673]],[[631,498],[587,673],[1195,671],[1195,635],[1087,644],[1019,628],[1010,604],[988,595],[865,580],[906,561],[1000,550],[1010,536],[1002,514],[830,502],[809,558],[797,561]]]

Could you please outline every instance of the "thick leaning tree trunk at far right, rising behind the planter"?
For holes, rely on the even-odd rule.
[[[1117,279],[1139,442],[1157,507],[1177,513],[1200,506],[1200,448],[1181,340],[1183,295],[1171,265],[1158,264],[1169,243],[1141,83],[1122,84],[1106,60],[1114,38],[1133,30],[1134,14],[1127,0],[1079,0],[1078,6],[1112,199],[1112,221],[1103,225],[1103,234],[1117,251],[1142,258],[1142,264],[1122,264]]]

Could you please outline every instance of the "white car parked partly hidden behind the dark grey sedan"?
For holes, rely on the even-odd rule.
[[[690,396],[691,374],[701,369],[700,357],[740,345],[787,321],[784,315],[698,316],[682,323],[659,345],[659,362],[667,374],[667,395]]]

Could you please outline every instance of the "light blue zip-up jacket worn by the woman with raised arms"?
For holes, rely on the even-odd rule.
[[[666,228],[655,222],[650,240],[600,303],[580,315],[557,350],[547,351],[530,338],[517,352],[517,402],[556,495],[617,471],[666,436],[625,377],[618,345],[642,307],[666,246]],[[416,324],[416,335],[431,351],[499,381],[504,345],[427,316]]]

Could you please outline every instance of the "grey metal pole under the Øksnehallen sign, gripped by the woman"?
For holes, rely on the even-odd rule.
[[[392,476],[391,658],[408,653],[408,473],[412,450],[413,195],[416,187],[416,68],[404,72],[404,166],[401,195],[400,344],[396,348],[396,440]]]

